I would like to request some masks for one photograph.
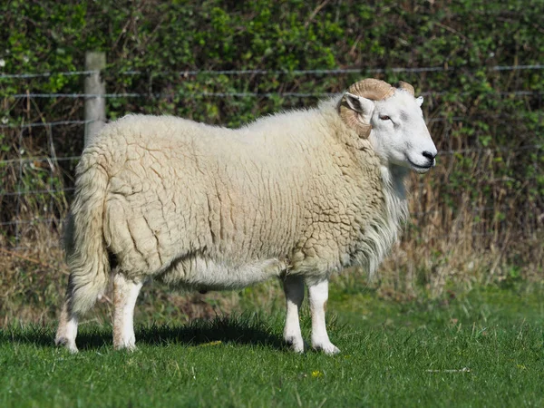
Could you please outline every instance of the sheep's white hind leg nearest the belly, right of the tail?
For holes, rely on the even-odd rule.
[[[134,306],[143,282],[128,279],[121,273],[113,277],[113,347],[136,348]]]

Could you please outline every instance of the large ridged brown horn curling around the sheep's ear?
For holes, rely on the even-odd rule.
[[[394,88],[389,83],[385,83],[384,81],[368,78],[363,81],[359,81],[358,83],[354,83],[347,89],[347,92],[373,101],[381,101],[392,96],[394,93]],[[366,139],[370,135],[372,126],[368,123],[363,123],[359,118],[359,113],[350,109],[345,101],[345,96],[340,101],[339,113],[340,117],[347,126],[350,128],[355,128],[359,134],[359,137]]]

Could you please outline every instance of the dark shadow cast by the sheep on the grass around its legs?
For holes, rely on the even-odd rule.
[[[255,316],[217,316],[210,320],[195,320],[188,325],[136,326],[136,345],[203,345],[221,341],[238,345],[265,345],[287,349],[272,325]],[[12,326],[0,331],[0,344],[26,344],[53,347],[51,326]],[[83,327],[76,343],[80,350],[112,346],[112,330],[103,326]]]

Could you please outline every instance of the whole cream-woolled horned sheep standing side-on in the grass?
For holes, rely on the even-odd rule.
[[[279,277],[284,338],[303,352],[305,284],[311,344],[338,353],[325,327],[329,278],[373,274],[407,217],[404,180],[437,154],[413,87],[376,79],[308,110],[237,130],[129,115],[84,149],[65,232],[69,284],[55,336],[77,352],[78,320],[112,271],[113,345],[135,348],[143,283],[235,289]]]

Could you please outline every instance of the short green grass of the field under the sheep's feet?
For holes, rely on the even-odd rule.
[[[83,325],[70,355],[52,346],[53,326],[11,326],[0,335],[0,406],[544,404],[539,287],[402,303],[357,282],[333,289],[335,356],[290,353],[277,306],[189,325],[139,319],[134,353],[112,350],[109,327]]]

